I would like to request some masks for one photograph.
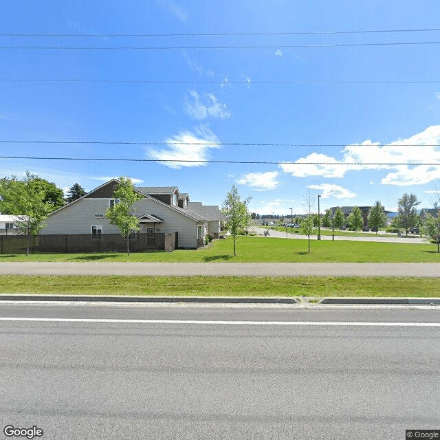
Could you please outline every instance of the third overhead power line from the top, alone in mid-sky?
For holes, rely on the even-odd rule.
[[[133,83],[133,84],[261,84],[261,85],[380,85],[380,84],[439,84],[440,80],[360,80],[360,81],[311,81],[311,80],[136,80],[136,79],[75,79],[75,78],[0,78],[10,83]]]

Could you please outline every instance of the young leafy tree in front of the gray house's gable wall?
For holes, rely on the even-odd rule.
[[[116,186],[113,197],[118,201],[105,212],[105,217],[110,224],[116,226],[121,235],[126,239],[126,253],[130,255],[130,234],[140,230],[139,220],[134,216],[136,201],[143,196],[133,188],[133,182],[128,177],[120,177],[120,183]]]

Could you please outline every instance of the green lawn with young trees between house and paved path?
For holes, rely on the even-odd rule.
[[[113,262],[166,262],[166,263],[440,263],[437,245],[432,243],[377,243],[344,240],[311,240],[311,252],[307,252],[307,240],[278,239],[261,236],[240,236],[236,240],[236,256],[232,250],[232,238],[216,240],[198,250],[174,252],[140,252],[127,256],[118,253],[102,254],[32,254],[25,256],[0,255],[0,262],[7,261],[113,261]]]

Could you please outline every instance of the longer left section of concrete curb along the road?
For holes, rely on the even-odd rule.
[[[104,295],[1,295],[0,301],[94,301],[106,303],[221,303],[300,304],[295,298],[242,296],[104,296]]]

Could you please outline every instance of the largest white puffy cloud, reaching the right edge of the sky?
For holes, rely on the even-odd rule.
[[[421,162],[440,162],[440,125],[428,127],[425,131],[390,144],[380,145],[366,140],[362,144],[345,146],[342,160],[322,153],[311,153],[297,159],[295,164],[280,164],[285,173],[295,177],[321,176],[341,178],[353,170],[396,170],[388,173],[381,184],[406,186],[426,184],[439,176],[440,166],[417,165]],[[415,146],[402,146],[415,145]],[[307,162],[326,162],[326,164],[307,164]],[[391,163],[404,165],[375,165]],[[412,163],[415,166],[405,164]],[[299,165],[298,165],[299,164]],[[303,164],[303,165],[301,165]]]

